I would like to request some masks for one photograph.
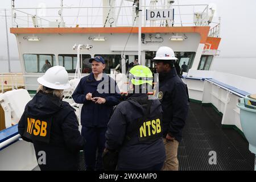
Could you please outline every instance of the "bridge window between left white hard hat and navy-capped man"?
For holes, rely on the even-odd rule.
[[[65,67],[68,73],[75,73],[76,72],[76,64],[77,64],[77,55],[67,55],[61,54],[58,55],[59,64],[62,67]],[[80,62],[80,68],[82,63],[81,72],[82,73],[90,73],[92,72],[92,66],[89,63],[89,59],[91,58],[90,55],[82,55],[82,59]]]

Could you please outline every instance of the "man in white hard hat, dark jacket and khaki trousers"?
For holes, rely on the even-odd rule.
[[[159,92],[156,97],[163,109],[163,140],[166,147],[164,171],[179,170],[177,148],[188,115],[186,85],[177,76],[174,63],[177,58],[170,47],[160,47],[156,52],[156,72],[159,73]]]

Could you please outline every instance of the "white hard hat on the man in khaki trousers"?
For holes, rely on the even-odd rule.
[[[156,51],[156,55],[154,60],[176,60],[174,51],[170,47],[160,47],[158,51]]]

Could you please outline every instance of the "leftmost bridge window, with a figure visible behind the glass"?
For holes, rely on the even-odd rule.
[[[27,73],[43,73],[56,65],[52,54],[23,54],[23,59]]]

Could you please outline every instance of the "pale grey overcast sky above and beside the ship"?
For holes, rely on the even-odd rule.
[[[148,0],[147,0],[148,1]],[[47,7],[59,6],[59,0],[16,0],[16,7],[38,7],[40,3],[46,3]],[[64,0],[65,6],[79,6],[80,0]],[[83,1],[81,1],[83,2]],[[221,16],[221,56],[220,57],[255,57],[256,40],[256,1],[255,0],[179,0],[180,5],[184,4],[210,4],[216,9],[214,21],[218,21]],[[84,0],[83,6],[88,6],[92,0]],[[94,5],[100,1],[93,1]],[[175,1],[177,5],[177,0]],[[0,2],[0,57],[6,57],[6,29],[5,17],[2,9],[10,9],[11,0],[1,0]],[[10,11],[9,11],[10,12]],[[11,19],[8,18],[8,25],[11,25]],[[8,29],[8,31],[10,31]],[[9,34],[10,53],[13,57],[18,57],[15,36]]]

